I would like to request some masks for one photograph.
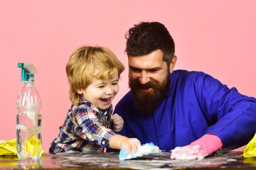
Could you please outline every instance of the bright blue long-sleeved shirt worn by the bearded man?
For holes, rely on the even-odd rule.
[[[224,147],[241,147],[256,131],[256,99],[229,89],[203,72],[176,70],[170,91],[154,114],[134,108],[129,91],[115,108],[124,119],[121,135],[153,142],[170,151],[189,145],[205,134],[220,137]]]

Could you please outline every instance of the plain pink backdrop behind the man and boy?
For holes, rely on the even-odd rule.
[[[16,138],[18,62],[38,69],[43,149],[70,108],[65,64],[80,45],[109,47],[126,67],[114,105],[127,93],[124,34],[139,21],[160,21],[176,42],[176,69],[206,72],[256,96],[255,0],[2,0],[0,1],[0,140]]]

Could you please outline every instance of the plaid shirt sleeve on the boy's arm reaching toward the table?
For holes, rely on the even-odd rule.
[[[78,107],[75,115],[73,115],[75,133],[85,140],[95,142],[102,147],[108,147],[110,137],[116,135],[116,133],[110,128],[106,128],[107,121],[100,120],[97,114],[103,113],[89,107]]]

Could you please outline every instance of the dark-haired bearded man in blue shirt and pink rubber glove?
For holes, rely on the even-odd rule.
[[[124,120],[121,135],[173,149],[172,159],[202,159],[252,139],[256,99],[203,72],[174,70],[174,40],[163,24],[130,28],[126,52],[131,91],[114,111]]]

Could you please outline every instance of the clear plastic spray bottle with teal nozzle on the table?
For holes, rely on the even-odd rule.
[[[18,63],[21,68],[21,81],[25,85],[18,94],[16,108],[16,140],[19,159],[39,159],[42,155],[42,107],[41,98],[36,90],[33,64]]]

